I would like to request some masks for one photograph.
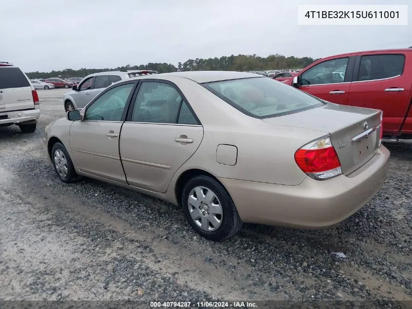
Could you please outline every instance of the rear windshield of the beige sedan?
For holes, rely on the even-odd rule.
[[[292,114],[325,104],[292,86],[266,77],[202,85],[244,114],[255,118]]]

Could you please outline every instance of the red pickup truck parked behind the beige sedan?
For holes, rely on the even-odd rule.
[[[329,102],[380,109],[384,139],[412,139],[412,48],[323,58],[283,83]]]

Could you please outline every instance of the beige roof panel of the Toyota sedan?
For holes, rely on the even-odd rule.
[[[176,76],[186,78],[188,80],[203,83],[203,82],[218,82],[227,80],[236,80],[242,78],[259,77],[264,78],[262,75],[244,72],[234,72],[234,71],[185,71],[185,72],[172,72],[172,73],[161,73],[155,76],[145,75],[139,76],[135,79],[167,79],[167,76]]]

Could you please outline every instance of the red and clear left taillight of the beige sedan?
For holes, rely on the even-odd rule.
[[[294,160],[304,173],[314,179],[325,180],[342,174],[330,137],[304,145],[295,152]]]

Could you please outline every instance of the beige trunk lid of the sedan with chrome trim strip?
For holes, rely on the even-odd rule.
[[[331,134],[342,168],[348,175],[365,164],[380,145],[381,111],[327,103],[302,112],[262,119],[266,123],[301,127]],[[310,142],[310,141],[308,141]],[[296,149],[297,150],[297,149]]]

